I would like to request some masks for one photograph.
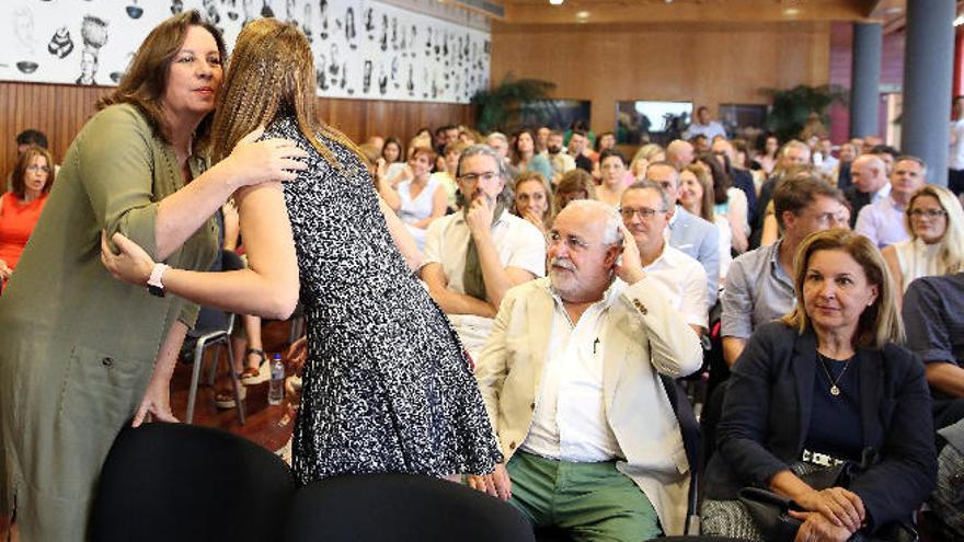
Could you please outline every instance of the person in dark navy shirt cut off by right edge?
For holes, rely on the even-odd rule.
[[[964,418],[964,273],[911,281],[903,314],[907,348],[925,364],[934,428],[955,424]]]

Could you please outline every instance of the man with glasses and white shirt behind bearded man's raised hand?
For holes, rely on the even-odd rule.
[[[669,197],[659,185],[641,181],[622,193],[619,214],[636,243],[646,276],[666,289],[669,304],[701,337],[707,331],[707,272],[666,242],[669,208]]]

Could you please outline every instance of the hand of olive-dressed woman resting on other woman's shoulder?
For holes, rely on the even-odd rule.
[[[288,139],[257,139],[264,135],[264,127],[259,126],[248,134],[231,150],[231,154],[218,163],[217,168],[227,169],[229,178],[236,187],[249,186],[267,182],[294,181],[295,172],[308,168],[299,158],[308,153],[299,149],[295,141]]]

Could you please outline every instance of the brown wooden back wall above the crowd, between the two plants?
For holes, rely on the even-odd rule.
[[[590,100],[596,132],[616,129],[616,102],[766,104],[765,88],[826,84],[829,23],[493,25],[492,81],[513,72]]]

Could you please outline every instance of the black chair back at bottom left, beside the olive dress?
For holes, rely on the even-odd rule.
[[[89,538],[278,540],[295,488],[284,461],[245,438],[183,424],[128,427],[104,463]]]

